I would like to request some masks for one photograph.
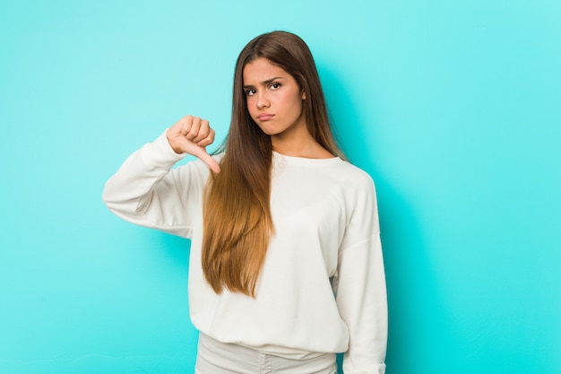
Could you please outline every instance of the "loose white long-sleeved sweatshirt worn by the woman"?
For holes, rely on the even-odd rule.
[[[223,343],[303,359],[345,352],[345,374],[383,374],[387,339],[384,262],[375,188],[340,158],[273,152],[272,236],[256,297],[216,294],[201,266],[203,161],[171,169],[185,155],[165,134],[134,152],[103,192],[128,222],[189,238],[189,305],[196,328]]]

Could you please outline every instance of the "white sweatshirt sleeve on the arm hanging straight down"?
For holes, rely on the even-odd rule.
[[[375,187],[359,183],[350,196],[350,219],[341,243],[336,297],[349,328],[345,374],[384,374],[387,297]]]

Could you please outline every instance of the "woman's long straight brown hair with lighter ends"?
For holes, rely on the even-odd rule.
[[[306,43],[286,31],[251,40],[237,57],[229,135],[219,152],[220,173],[212,174],[203,204],[203,273],[212,289],[223,287],[255,297],[255,285],[274,232],[271,199],[271,136],[249,115],[243,91],[244,67],[264,57],[292,75],[306,92],[306,126],[333,155],[343,154],[332,135],[324,92]]]

